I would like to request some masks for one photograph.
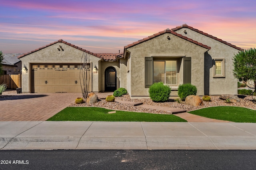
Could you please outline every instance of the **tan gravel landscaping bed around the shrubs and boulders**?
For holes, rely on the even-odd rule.
[[[16,90],[7,90],[3,92],[2,95],[0,95],[0,98],[6,98],[13,95],[24,95],[24,94],[17,94]],[[116,97],[116,100],[122,100],[122,101],[130,101],[130,102],[142,102],[146,105],[153,105],[153,106],[164,106],[164,107],[173,107],[173,108],[180,108],[180,109],[186,109],[187,111],[200,109],[204,107],[211,107],[211,106],[240,106],[240,107],[247,107],[250,109],[256,109],[256,103],[252,102],[251,96],[238,96],[240,98],[240,102],[237,103],[226,103],[224,100],[220,100],[220,96],[210,96],[211,101],[210,102],[203,102],[204,104],[202,106],[190,106],[186,105],[184,102],[178,103],[174,99],[169,99],[167,102],[152,102],[151,99],[130,99],[130,96],[128,94],[123,95],[121,97]],[[178,98],[178,97],[177,97]],[[202,97],[201,97],[202,98]],[[75,99],[74,99],[75,101]],[[143,107],[138,106],[132,106],[130,104],[123,104],[118,102],[106,102],[104,99],[99,99],[99,102],[96,104],[70,104],[70,106],[94,106],[94,107],[104,107],[108,109],[114,109],[114,110],[125,110],[125,111],[136,111],[136,112],[146,112],[146,113],[161,113],[161,114],[169,114],[165,111],[159,111],[155,109],[147,109]]]

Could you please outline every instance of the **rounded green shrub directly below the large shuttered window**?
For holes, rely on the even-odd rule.
[[[164,102],[169,99],[171,88],[163,82],[154,83],[150,86],[149,97],[154,102]]]

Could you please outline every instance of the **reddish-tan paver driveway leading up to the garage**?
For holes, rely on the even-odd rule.
[[[0,121],[45,121],[78,97],[82,94],[34,93],[0,98]]]

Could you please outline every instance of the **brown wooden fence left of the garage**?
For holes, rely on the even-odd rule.
[[[8,89],[21,88],[21,74],[0,75],[0,84],[7,84]]]

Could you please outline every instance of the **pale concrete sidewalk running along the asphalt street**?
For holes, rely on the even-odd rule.
[[[255,150],[256,123],[2,121],[0,149]]]

